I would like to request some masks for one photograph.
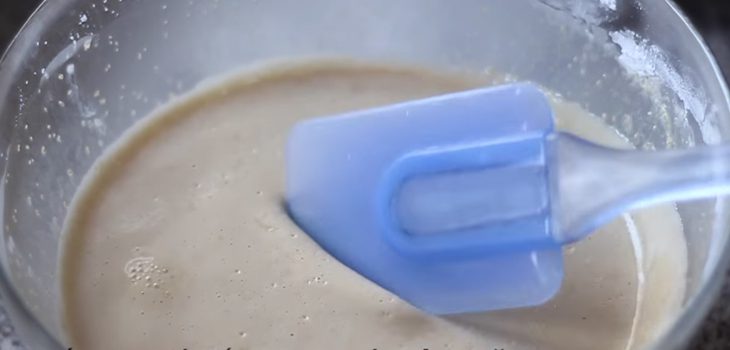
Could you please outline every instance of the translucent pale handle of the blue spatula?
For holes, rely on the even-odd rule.
[[[553,232],[562,243],[631,209],[730,194],[728,145],[617,150],[556,133],[549,154]]]

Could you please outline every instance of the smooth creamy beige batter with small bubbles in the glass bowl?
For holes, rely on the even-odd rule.
[[[468,89],[494,77],[311,61],[246,73],[147,118],[85,179],[66,222],[74,349],[625,349],[679,308],[677,212],[617,220],[565,249],[546,305],[438,318],[331,258],[282,210],[298,120]],[[576,105],[561,128],[626,147]],[[597,189],[600,190],[600,189]],[[636,248],[636,249],[635,249]]]

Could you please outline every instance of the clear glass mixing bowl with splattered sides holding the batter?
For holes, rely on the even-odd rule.
[[[108,145],[205,81],[321,55],[506,72],[578,102],[640,149],[730,137],[725,83],[671,1],[48,1],[0,62],[0,292],[23,342],[63,348],[60,233]],[[687,294],[658,349],[686,343],[730,259],[722,198],[678,209]]]

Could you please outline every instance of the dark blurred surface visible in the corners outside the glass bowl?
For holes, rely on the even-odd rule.
[[[37,0],[0,0],[0,51],[4,50],[38,3]],[[730,78],[730,1],[678,0],[677,3],[702,32],[725,77]],[[4,346],[2,348],[5,349]],[[730,278],[690,348],[730,349]]]

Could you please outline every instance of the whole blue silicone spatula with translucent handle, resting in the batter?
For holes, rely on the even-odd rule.
[[[556,131],[527,83],[304,121],[287,147],[297,224],[434,314],[544,303],[562,245],[630,209],[730,192],[730,147],[605,148]]]

